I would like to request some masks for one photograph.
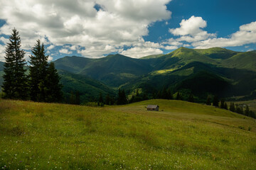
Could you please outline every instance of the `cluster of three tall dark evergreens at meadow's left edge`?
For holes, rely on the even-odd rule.
[[[4,62],[4,98],[42,102],[60,102],[63,98],[60,77],[54,63],[48,63],[43,43],[36,41],[27,68],[21,38],[14,28],[6,44]]]

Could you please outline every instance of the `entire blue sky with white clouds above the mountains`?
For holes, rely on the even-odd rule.
[[[13,28],[26,59],[166,54],[178,47],[256,50],[255,0],[0,0],[0,61]]]

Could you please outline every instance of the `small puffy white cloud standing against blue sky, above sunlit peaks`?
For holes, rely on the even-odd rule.
[[[186,42],[198,42],[215,37],[215,34],[207,33],[202,28],[206,28],[207,23],[202,17],[191,16],[188,20],[183,19],[180,28],[169,29],[169,32],[176,36],[181,36],[176,40]]]

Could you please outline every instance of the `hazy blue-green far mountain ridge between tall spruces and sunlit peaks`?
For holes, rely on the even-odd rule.
[[[114,87],[153,70],[149,61],[133,59],[124,55],[109,55],[100,59],[63,57],[55,61],[55,67],[75,74],[86,75]]]

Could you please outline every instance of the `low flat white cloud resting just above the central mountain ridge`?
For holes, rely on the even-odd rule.
[[[159,55],[163,54],[162,50],[151,47],[132,47],[128,50],[124,50],[121,55],[125,55],[133,58],[140,58],[147,55]]]

